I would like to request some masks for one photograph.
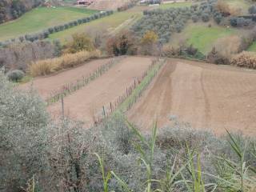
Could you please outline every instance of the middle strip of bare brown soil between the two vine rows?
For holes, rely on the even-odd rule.
[[[126,93],[126,88],[142,76],[151,61],[152,58],[124,58],[101,77],[64,98],[65,114],[91,126],[94,115],[102,114],[102,106],[109,106]],[[62,111],[61,103],[54,103],[48,110],[54,118],[58,117]]]

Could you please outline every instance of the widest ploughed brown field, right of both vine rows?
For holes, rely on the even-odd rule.
[[[170,59],[127,115],[144,130],[172,116],[218,135],[256,134],[255,82],[256,71]]]

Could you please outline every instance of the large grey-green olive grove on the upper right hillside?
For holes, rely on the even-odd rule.
[[[190,19],[209,22],[210,18],[214,18],[215,22],[220,23],[222,14],[215,8],[216,3],[217,0],[208,0],[190,7],[144,10],[144,16],[132,26],[132,30],[139,37],[153,30],[158,34],[158,42],[163,44],[169,42],[172,34],[182,32]]]

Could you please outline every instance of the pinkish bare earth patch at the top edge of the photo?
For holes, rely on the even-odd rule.
[[[130,0],[97,0],[89,6],[92,10],[117,10]]]

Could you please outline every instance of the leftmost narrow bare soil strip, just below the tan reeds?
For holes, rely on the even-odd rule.
[[[84,65],[75,67],[71,70],[65,70],[51,76],[35,78],[33,82],[23,84],[20,86],[20,88],[27,90],[32,86],[34,90],[38,91],[38,94],[40,94],[42,98],[46,99],[50,97],[50,94],[52,94],[54,91],[61,90],[62,86],[65,86],[71,82],[76,82],[83,76],[88,77],[95,70],[97,70],[98,67],[105,65],[107,62],[110,62],[110,58],[87,62]]]

